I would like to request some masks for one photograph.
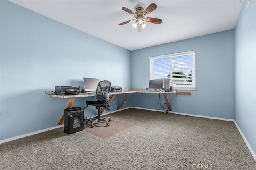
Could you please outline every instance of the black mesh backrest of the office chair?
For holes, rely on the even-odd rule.
[[[96,99],[108,104],[110,99],[110,90],[111,90],[110,81],[108,80],[100,81],[97,86]]]

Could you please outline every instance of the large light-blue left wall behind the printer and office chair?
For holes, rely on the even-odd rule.
[[[12,2],[0,3],[1,140],[57,125],[68,99],[45,93],[55,85],[82,87],[83,77],[96,77],[131,86],[127,49]],[[73,106],[84,107],[90,99],[77,98]],[[116,110],[118,101],[112,102],[110,111]],[[92,114],[90,107],[85,109],[85,116]]]

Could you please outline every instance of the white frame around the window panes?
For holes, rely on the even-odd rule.
[[[174,84],[174,89],[177,90],[196,90],[196,51],[186,51],[186,52],[181,52],[181,53],[173,53],[173,54],[167,54],[167,55],[160,55],[160,56],[155,56],[155,57],[149,57],[150,59],[150,80],[154,79],[154,68],[153,68],[153,60],[157,58],[164,58],[164,57],[170,57],[171,59],[171,77],[172,77],[172,59],[173,57],[179,57],[179,56],[184,56],[184,55],[192,55],[192,85],[175,85]]]

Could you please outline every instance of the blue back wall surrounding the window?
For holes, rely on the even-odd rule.
[[[132,51],[132,87],[148,87],[149,57],[192,50],[196,50],[197,90],[179,99],[169,95],[172,111],[234,119],[234,30]],[[156,109],[157,101],[150,95],[133,95],[132,105]]]

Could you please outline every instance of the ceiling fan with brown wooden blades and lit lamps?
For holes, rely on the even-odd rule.
[[[122,22],[119,25],[121,26],[121,25],[127,24],[129,22],[135,21],[132,24],[132,27],[134,29],[137,27],[138,32],[141,32],[143,30],[143,28],[146,27],[146,24],[145,24],[144,20],[146,22],[151,22],[151,23],[154,23],[154,24],[161,24],[162,23],[161,19],[151,18],[151,17],[144,18],[146,15],[148,15],[150,12],[154,11],[156,8],[157,8],[157,5],[155,3],[150,4],[145,10],[143,10],[142,7],[137,7],[136,12],[133,12],[132,10],[129,10],[126,7],[122,7],[122,10],[128,12],[129,14],[132,14],[135,17],[135,19],[128,20],[126,22]]]

